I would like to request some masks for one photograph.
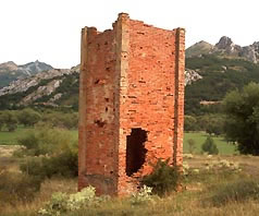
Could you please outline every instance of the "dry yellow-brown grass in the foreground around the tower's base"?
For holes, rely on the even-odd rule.
[[[205,169],[205,164],[218,161],[238,163],[238,170],[231,168]],[[11,161],[11,160],[10,160]],[[101,204],[86,205],[83,209],[61,213],[62,216],[257,216],[259,196],[259,157],[195,155],[185,158],[189,164],[183,191],[164,197],[132,204],[131,199],[112,197]],[[12,161],[11,161],[12,163]],[[10,163],[10,165],[11,165]],[[198,169],[199,172],[193,171]],[[257,182],[257,185],[252,184]],[[53,192],[75,193],[77,179],[47,179],[33,202],[1,205],[1,216],[38,216],[37,211],[49,201]],[[251,190],[250,190],[251,189]]]

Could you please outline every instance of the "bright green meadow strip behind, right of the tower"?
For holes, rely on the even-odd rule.
[[[193,132],[193,133],[184,133],[184,153],[189,153],[187,141],[193,139],[196,144],[195,154],[201,153],[201,145],[206,141],[208,134],[205,132]],[[212,137],[219,148],[220,155],[233,155],[237,154],[235,146],[233,144],[227,143],[222,136],[213,136]]]

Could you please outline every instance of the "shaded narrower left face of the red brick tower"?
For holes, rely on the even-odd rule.
[[[97,193],[115,193],[115,44],[113,31],[85,28],[86,65],[81,72],[79,189],[92,184]],[[83,63],[84,65],[84,63]],[[82,103],[82,101],[81,101]],[[84,101],[83,101],[84,103]],[[82,137],[85,136],[85,137]]]

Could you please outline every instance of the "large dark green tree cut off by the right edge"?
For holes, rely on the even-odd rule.
[[[223,100],[225,135],[243,154],[259,155],[259,84],[229,93]]]

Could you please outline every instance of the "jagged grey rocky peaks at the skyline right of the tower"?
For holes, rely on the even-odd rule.
[[[259,62],[259,41],[242,47],[232,41],[230,37],[223,36],[215,45],[206,41],[197,43],[186,49],[186,57],[201,57],[202,55],[218,55],[221,57],[243,58],[254,63]]]

